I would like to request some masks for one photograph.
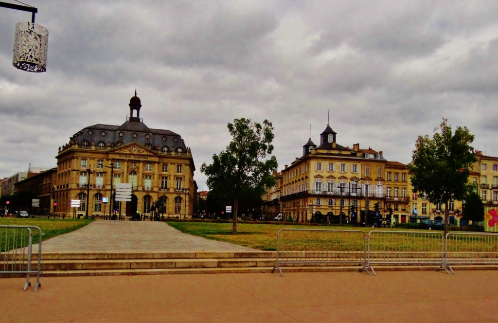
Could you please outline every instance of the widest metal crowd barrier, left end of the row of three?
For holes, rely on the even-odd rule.
[[[280,229],[277,234],[275,269],[282,265],[325,266],[331,263],[360,264],[367,271],[366,234],[356,230]]]

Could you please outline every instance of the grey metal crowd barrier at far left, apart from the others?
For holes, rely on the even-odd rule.
[[[38,234],[38,264],[31,269],[33,236]],[[34,291],[41,286],[41,229],[37,226],[0,225],[0,276],[4,274],[26,274],[24,290],[31,286],[30,274],[36,274]]]

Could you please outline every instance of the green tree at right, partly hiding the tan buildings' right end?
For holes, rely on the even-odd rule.
[[[453,134],[447,120],[443,119],[440,132],[419,136],[413,161],[410,165],[411,183],[415,192],[425,195],[432,203],[445,205],[444,233],[448,233],[451,199],[463,200],[469,192],[469,169],[476,161],[472,135],[466,127],[457,127]]]

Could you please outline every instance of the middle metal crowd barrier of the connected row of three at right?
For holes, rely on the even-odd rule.
[[[372,265],[439,265],[448,272],[443,237],[434,231],[370,231],[366,267],[374,275]]]

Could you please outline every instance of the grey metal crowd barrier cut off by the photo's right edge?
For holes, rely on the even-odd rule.
[[[498,234],[449,232],[445,265],[498,265]]]

